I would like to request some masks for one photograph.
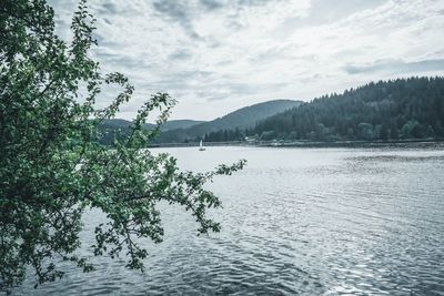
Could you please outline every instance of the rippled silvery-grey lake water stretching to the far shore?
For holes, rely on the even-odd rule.
[[[193,171],[248,160],[209,186],[221,233],[198,237],[162,206],[165,239],[148,243],[144,274],[95,258],[95,272],[13,294],[444,295],[443,147],[153,150]],[[87,229],[100,218],[87,215]]]

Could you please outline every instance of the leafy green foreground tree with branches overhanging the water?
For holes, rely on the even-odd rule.
[[[148,253],[137,238],[162,241],[157,204],[179,204],[195,217],[199,233],[218,232],[220,224],[206,210],[221,202],[203,185],[244,165],[181,172],[175,159],[145,150],[174,104],[167,93],[152,95],[111,149],[99,144],[97,126],[115,116],[133,86],[120,73],[103,74],[89,58],[97,44],[93,24],[81,0],[67,44],[54,34],[53,10],[44,0],[1,1],[0,289],[22,283],[29,266],[38,284],[61,277],[58,259],[91,271],[74,253],[80,218],[89,208],[107,214],[95,225],[94,255],[124,253],[129,268],[143,271]],[[95,99],[104,84],[123,90],[100,110]],[[157,129],[147,132],[142,125],[154,109],[161,115]]]

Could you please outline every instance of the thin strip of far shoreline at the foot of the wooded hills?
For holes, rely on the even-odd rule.
[[[258,146],[258,147],[383,147],[383,146],[431,146],[444,143],[444,139],[407,139],[390,141],[334,141],[334,142],[313,142],[313,141],[230,141],[230,142],[204,142],[204,146]],[[158,143],[149,147],[198,147],[199,142],[189,143]]]

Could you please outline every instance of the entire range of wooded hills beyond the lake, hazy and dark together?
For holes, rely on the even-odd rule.
[[[281,112],[281,113],[280,113]],[[130,122],[107,121],[107,141]],[[210,122],[172,121],[158,143],[309,140],[400,140],[444,137],[444,78],[371,82],[311,102],[276,100],[242,108]],[[175,127],[182,129],[175,129]],[[145,129],[152,125],[147,124]]]

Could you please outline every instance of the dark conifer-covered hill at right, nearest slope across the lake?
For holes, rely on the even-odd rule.
[[[260,121],[244,131],[220,131],[204,140],[400,140],[444,137],[444,79],[411,78],[369,83],[324,95]]]

